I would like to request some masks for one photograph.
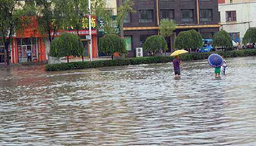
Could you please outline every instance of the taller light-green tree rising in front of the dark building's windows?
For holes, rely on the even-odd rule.
[[[177,28],[177,23],[170,19],[161,19],[159,31],[163,38],[170,37],[172,32]]]

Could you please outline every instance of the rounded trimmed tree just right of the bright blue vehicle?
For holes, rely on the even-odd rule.
[[[221,30],[213,36],[213,47],[232,47],[232,39],[227,31]]]

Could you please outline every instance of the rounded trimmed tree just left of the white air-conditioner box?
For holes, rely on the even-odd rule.
[[[100,38],[100,50],[106,55],[111,55],[114,59],[114,53],[127,53],[126,44],[123,38],[116,34],[106,34]]]

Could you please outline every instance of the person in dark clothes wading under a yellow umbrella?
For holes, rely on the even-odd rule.
[[[184,53],[188,53],[188,51],[186,51],[186,50],[177,50],[177,51],[175,51],[171,54],[171,56],[175,56],[175,59],[172,61],[173,69],[174,69],[174,77],[180,77],[181,76],[181,74],[180,74],[181,61],[180,61],[179,55],[184,54]]]

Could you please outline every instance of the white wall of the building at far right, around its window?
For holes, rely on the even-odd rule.
[[[256,27],[256,2],[219,4],[221,28],[229,33],[240,33],[240,40],[249,27]],[[237,21],[226,22],[226,11],[236,11]]]

